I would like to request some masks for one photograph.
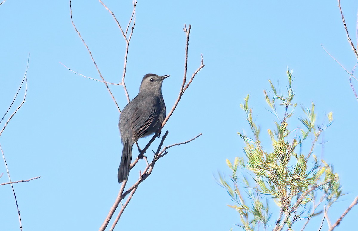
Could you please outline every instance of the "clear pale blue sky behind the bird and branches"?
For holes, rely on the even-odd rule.
[[[119,114],[104,84],[77,76],[59,63],[99,78],[71,24],[69,2],[19,3],[7,0],[0,6],[1,113],[14,97],[30,52],[28,97],[0,143],[13,181],[41,176],[14,185],[23,228],[98,230],[120,187],[116,179],[122,149]],[[125,26],[132,2],[107,0],[105,4]],[[342,7],[354,37],[358,4],[345,0]],[[94,0],[73,0],[72,10],[103,76],[108,82],[119,82],[125,42],[112,16]],[[203,136],[173,147],[160,159],[136,191],[117,229],[240,230],[233,225],[240,222],[239,216],[226,206],[229,196],[214,177],[218,171],[229,174],[226,158],[244,156],[244,142],[237,132],[249,131],[239,106],[248,93],[270,150],[265,131],[274,128],[275,117],[267,111],[262,90],[269,89],[268,79],[285,90],[287,66],[294,70],[296,102],[307,106],[315,102],[318,121],[333,111],[334,123],[323,134],[327,142],[323,150],[317,146],[315,154],[334,165],[347,193],[329,213],[335,221],[358,194],[358,102],[348,75],[320,46],[347,69],[356,64],[337,1],[138,1],[136,12],[126,79],[131,99],[144,74],[169,74],[163,84],[169,111],[184,70],[182,28],[184,23],[192,24],[188,73],[199,67],[201,53],[205,67],[165,126],[169,130],[165,145],[199,133]],[[127,101],[122,87],[111,89],[123,108]],[[21,100],[22,96],[16,106]],[[146,140],[139,144],[144,146]],[[153,149],[156,144],[158,140]],[[150,151],[147,155],[151,157]],[[144,161],[134,172],[140,167]],[[0,164],[1,183],[8,181],[5,171]],[[9,185],[1,186],[0,203],[1,230],[19,230]],[[357,216],[355,207],[336,230],[352,230]],[[313,230],[320,221],[320,216],[312,221]]]

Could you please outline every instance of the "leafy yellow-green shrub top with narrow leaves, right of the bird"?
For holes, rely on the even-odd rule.
[[[272,142],[272,151],[266,151],[261,144],[260,126],[253,120],[247,95],[244,104],[240,106],[246,112],[253,138],[238,132],[246,144],[243,148],[246,160],[242,157],[236,157],[234,162],[226,160],[232,172],[231,181],[219,175],[219,183],[234,202],[234,205],[228,206],[238,211],[241,221],[238,226],[246,231],[258,230],[259,226],[267,230],[271,218],[270,201],[274,201],[280,211],[276,222],[271,222],[271,225],[275,224],[273,230],[282,230],[285,226],[287,230],[292,230],[292,225],[297,221],[306,221],[304,229],[311,217],[322,212],[316,210],[322,209],[323,201],[328,210],[342,195],[338,174],[333,172],[332,166],[323,160],[319,161],[313,155],[321,132],[333,122],[332,112],[327,115],[327,124],[317,126],[314,103],[309,109],[301,106],[305,116],[299,118],[299,121],[304,127],[295,127],[291,131],[289,119],[294,115],[297,104],[293,103],[295,93],[292,90],[292,72],[287,71],[287,77],[289,84],[286,95],[280,95],[270,80],[273,97],[270,99],[267,91],[263,91],[271,112],[277,118],[276,127],[267,130]],[[276,109],[276,101],[280,102],[282,113]],[[280,117],[279,114],[283,115]],[[306,143],[310,148],[306,153],[301,153],[301,148]],[[242,181],[239,181],[239,168],[246,170],[251,178],[243,177]]]

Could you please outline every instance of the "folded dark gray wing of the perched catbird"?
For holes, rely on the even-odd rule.
[[[143,137],[149,130],[153,129],[158,123],[159,114],[158,97],[146,97],[140,102],[140,105],[136,107],[133,113],[131,121],[134,142]]]

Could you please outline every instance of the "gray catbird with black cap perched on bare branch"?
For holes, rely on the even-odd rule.
[[[119,117],[119,130],[123,144],[118,169],[118,182],[128,179],[133,144],[141,137],[158,132],[165,119],[165,104],[161,94],[163,80],[170,75],[146,74],[138,95],[127,104]]]

